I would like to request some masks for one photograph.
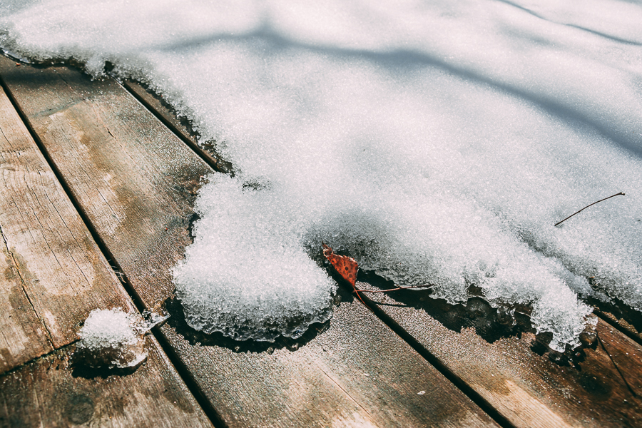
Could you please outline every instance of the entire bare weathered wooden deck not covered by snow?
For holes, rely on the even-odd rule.
[[[427,292],[370,310],[341,289],[297,341],[190,329],[170,267],[200,178],[233,165],[137,83],[4,57],[0,80],[0,427],[642,426],[641,336],[598,310],[599,340],[568,362],[481,299]],[[135,372],[71,364],[91,310],[163,303]]]

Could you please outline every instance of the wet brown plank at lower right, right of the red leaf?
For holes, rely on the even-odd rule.
[[[357,287],[374,290],[365,282]],[[557,365],[543,349],[536,352],[531,333],[492,337],[482,332],[489,334],[486,340],[474,320],[462,327],[462,314],[427,292],[387,294],[367,297],[516,427],[642,423],[642,347],[606,322],[599,320],[597,328],[604,348],[596,342],[576,367]]]

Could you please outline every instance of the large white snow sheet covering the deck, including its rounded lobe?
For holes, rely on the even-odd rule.
[[[1,9],[1,8],[4,8]],[[233,163],[174,269],[190,325],[296,337],[331,315],[320,241],[399,285],[531,305],[551,347],[642,310],[633,1],[5,1],[0,45],[111,61]],[[567,215],[598,199],[626,196]],[[590,285],[587,278],[594,277]]]

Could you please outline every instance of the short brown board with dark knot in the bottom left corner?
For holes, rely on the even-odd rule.
[[[74,348],[0,377],[0,427],[212,427],[153,337],[131,374],[77,367]]]

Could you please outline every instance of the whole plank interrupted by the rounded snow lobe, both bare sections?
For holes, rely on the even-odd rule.
[[[0,75],[141,300],[165,300],[190,243],[191,190],[210,168],[114,81],[6,61]],[[295,352],[233,352],[181,327],[179,315],[163,340],[232,427],[494,425],[356,302]]]

